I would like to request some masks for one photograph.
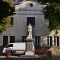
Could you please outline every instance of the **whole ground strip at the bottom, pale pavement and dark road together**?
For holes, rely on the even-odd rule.
[[[0,56],[0,60],[60,60],[60,57],[48,56]]]

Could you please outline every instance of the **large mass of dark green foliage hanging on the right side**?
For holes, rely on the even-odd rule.
[[[45,19],[49,21],[50,30],[60,29],[60,4],[52,3],[48,4],[44,8]]]

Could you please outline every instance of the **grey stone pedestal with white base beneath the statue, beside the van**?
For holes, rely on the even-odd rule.
[[[35,55],[34,40],[26,39],[26,53],[25,55]]]

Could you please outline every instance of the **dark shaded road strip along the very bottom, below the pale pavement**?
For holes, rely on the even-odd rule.
[[[50,58],[50,57],[43,57],[43,58],[0,58],[0,60],[60,60],[60,57]]]

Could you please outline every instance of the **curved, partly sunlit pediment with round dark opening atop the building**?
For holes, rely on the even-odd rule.
[[[34,1],[25,1],[15,7],[16,11],[21,9],[42,9],[42,5]]]

